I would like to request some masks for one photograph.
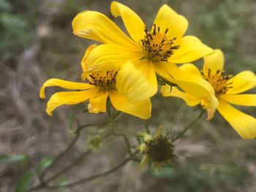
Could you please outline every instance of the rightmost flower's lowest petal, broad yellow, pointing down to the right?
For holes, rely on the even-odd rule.
[[[219,99],[218,111],[243,139],[254,139],[256,137],[255,118],[236,110],[222,99]]]

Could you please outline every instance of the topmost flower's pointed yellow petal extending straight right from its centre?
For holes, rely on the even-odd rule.
[[[169,61],[174,64],[192,62],[214,52],[214,50],[204,45],[200,39],[194,36],[182,37],[177,44],[179,46],[178,50],[175,50],[169,58]]]

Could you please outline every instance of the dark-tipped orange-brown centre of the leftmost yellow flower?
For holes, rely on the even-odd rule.
[[[102,91],[116,90],[116,75],[118,70],[112,70],[105,72],[104,74],[94,74],[88,75],[89,84],[95,85]]]

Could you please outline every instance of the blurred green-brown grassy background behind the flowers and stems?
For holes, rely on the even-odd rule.
[[[148,26],[159,7],[168,4],[189,20],[187,34],[224,51],[228,74],[246,69],[256,71],[256,1],[120,2],[134,9]],[[110,1],[0,0],[1,154],[28,154],[38,164],[64,150],[74,137],[69,129],[70,114],[75,112],[81,123],[106,118],[105,114],[82,113],[86,104],[59,107],[50,118],[45,113],[47,101],[38,97],[40,86],[50,77],[80,81],[80,60],[93,42],[74,36],[71,22],[85,9],[103,12],[123,28],[121,20],[110,14]],[[202,65],[202,61],[197,64]],[[47,94],[59,90],[49,88]],[[196,116],[192,108],[178,99],[157,95],[152,103],[152,118],[146,123],[153,133],[159,125],[165,126],[167,132],[181,130]],[[255,108],[239,109],[255,115]],[[59,191],[256,191],[255,140],[242,140],[219,114],[211,122],[205,118],[175,143],[179,162],[176,169],[154,172],[154,169],[140,170],[138,164],[131,163],[108,177]],[[127,134],[132,145],[137,145],[134,134],[142,131],[144,124],[138,118],[121,115],[118,131]],[[90,137],[99,134],[99,130],[102,129],[83,130],[72,151],[49,174],[88,150]],[[125,155],[122,140],[110,137],[53,184],[103,172]],[[0,191],[15,191],[30,169],[30,164],[0,164]]]

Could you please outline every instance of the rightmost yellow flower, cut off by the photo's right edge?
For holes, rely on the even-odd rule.
[[[250,71],[244,71],[236,74],[234,77],[231,75],[225,76],[225,70],[223,69],[224,60],[222,51],[216,50],[215,53],[204,58],[202,72],[193,64],[184,64],[181,66],[181,69],[210,82],[219,100],[217,110],[222,117],[235,128],[243,139],[254,139],[256,137],[256,119],[236,110],[230,104],[256,106],[255,94],[240,94],[255,88],[255,74]],[[176,88],[173,88],[172,92],[168,93],[169,89],[167,85],[162,87],[163,96],[176,96],[186,101],[189,106],[200,104],[199,97],[191,96]]]

